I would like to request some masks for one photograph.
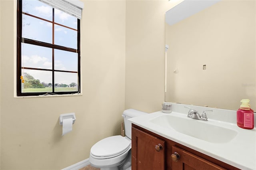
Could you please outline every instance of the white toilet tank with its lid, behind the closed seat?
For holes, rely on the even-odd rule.
[[[135,109],[127,109],[123,112],[122,117],[124,117],[124,130],[125,130],[125,135],[128,138],[132,139],[132,122],[128,121],[128,119],[130,119],[132,117],[146,115],[146,114],[148,114],[148,113],[137,111]]]

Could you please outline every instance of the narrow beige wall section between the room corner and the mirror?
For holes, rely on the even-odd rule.
[[[126,1],[125,108],[148,113],[164,102],[165,12],[181,1]]]

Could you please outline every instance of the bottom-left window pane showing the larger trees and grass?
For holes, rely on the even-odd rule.
[[[52,72],[22,69],[22,93],[52,92]]]

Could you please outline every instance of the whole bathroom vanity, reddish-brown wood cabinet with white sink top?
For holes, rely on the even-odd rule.
[[[200,121],[188,118],[184,106],[173,104],[172,113],[129,119],[132,170],[256,169],[256,129],[237,127],[236,111],[213,108],[208,121]]]

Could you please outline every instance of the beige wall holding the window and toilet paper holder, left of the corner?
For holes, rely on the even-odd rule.
[[[120,134],[125,92],[125,1],[84,1],[82,96],[14,98],[16,2],[0,1],[1,170],[58,170]],[[4,14],[4,15],[3,15]],[[76,113],[61,136],[58,117]]]

